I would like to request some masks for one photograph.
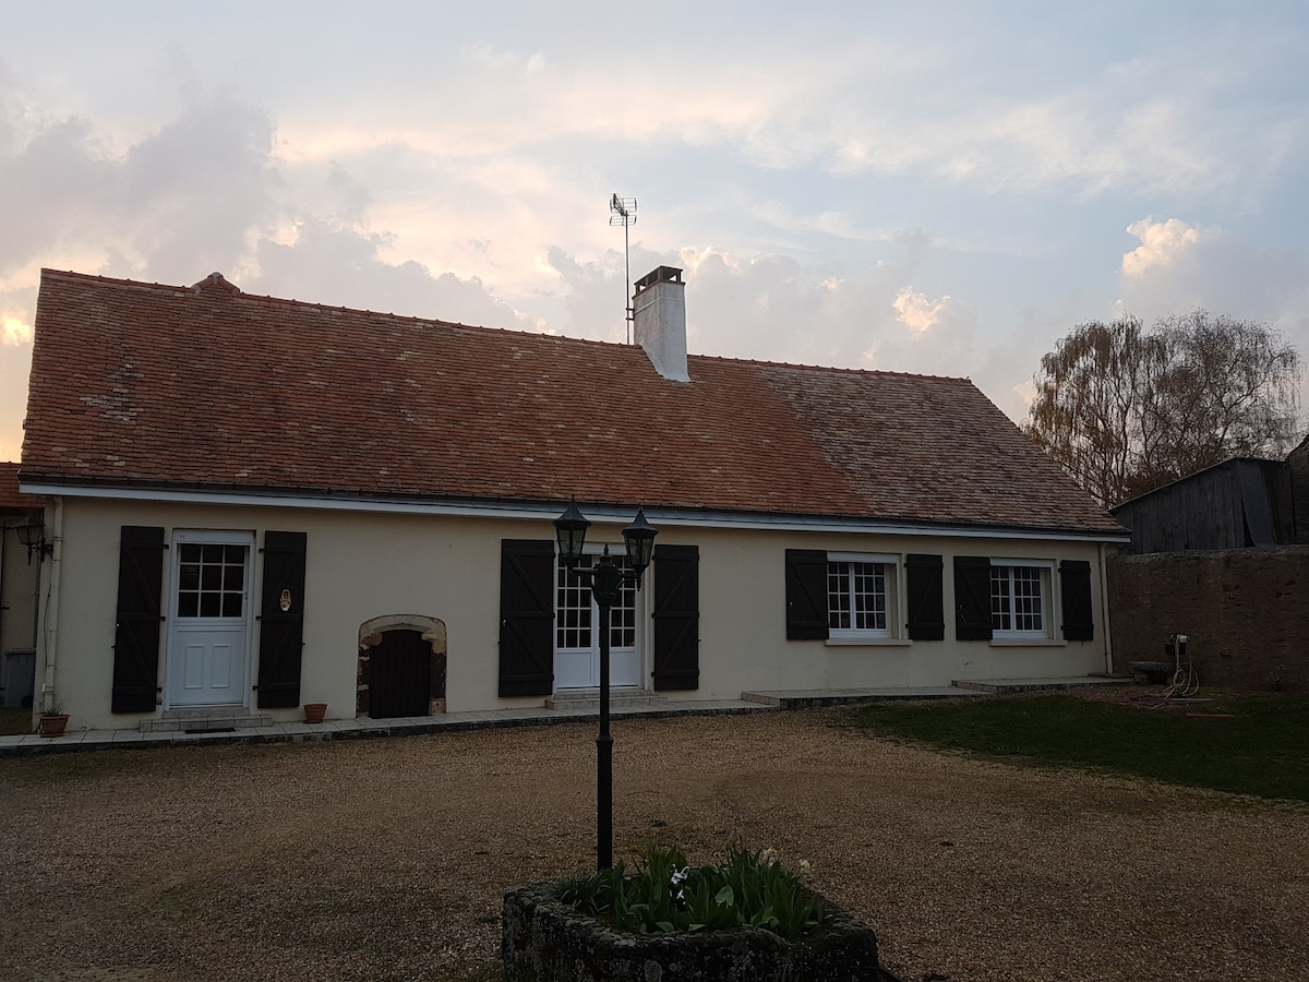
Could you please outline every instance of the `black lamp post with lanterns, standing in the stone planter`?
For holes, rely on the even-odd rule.
[[[577,501],[555,518],[555,538],[559,555],[573,576],[590,577],[590,593],[600,608],[600,736],[596,737],[596,868],[609,869],[614,864],[614,737],[609,735],[609,610],[618,602],[623,584],[641,588],[641,573],[654,554],[654,536],[658,530],[645,521],[645,511],[636,509],[636,518],[623,529],[627,562],[631,570],[623,572],[605,554],[590,570],[576,568],[586,542],[590,522],[577,511]]]

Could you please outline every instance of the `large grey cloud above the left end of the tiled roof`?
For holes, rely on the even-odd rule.
[[[126,155],[89,120],[13,101],[0,113],[22,134],[0,156],[0,276],[73,251],[94,257],[90,271],[190,282],[196,267],[233,267],[275,213],[272,130],[249,106],[192,103]]]

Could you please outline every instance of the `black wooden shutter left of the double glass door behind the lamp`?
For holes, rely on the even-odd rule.
[[[550,695],[555,687],[555,543],[500,542],[500,695]]]

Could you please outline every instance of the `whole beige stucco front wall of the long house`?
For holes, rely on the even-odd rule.
[[[301,702],[326,702],[329,716],[352,716],[359,628],[391,614],[437,618],[448,634],[446,708],[539,706],[542,699],[497,697],[500,539],[552,538],[539,520],[386,515],[304,508],[149,504],[64,499],[58,563],[58,628],[52,652],[58,697],[72,725],[114,728],[141,716],[109,711],[118,580],[119,529],[174,529],[308,536]],[[589,542],[620,542],[620,524],[593,526]],[[677,698],[740,698],[745,689],[831,689],[946,685],[963,678],[1059,677],[1105,668],[1098,549],[1092,543],[1014,539],[948,541],[919,536],[856,536],[719,530],[662,525],[661,543],[696,545],[700,554],[700,689]],[[846,647],[785,639],[787,549],[864,553],[939,553],[944,556],[946,640]],[[1096,596],[1096,640],[1039,647],[953,640],[956,553],[1026,559],[1086,559]],[[47,563],[47,568],[51,567]],[[253,563],[250,610],[258,613],[260,563]],[[653,573],[657,576],[657,570]],[[165,567],[165,594],[168,585]],[[1058,573],[1052,577],[1058,589]],[[644,593],[651,593],[647,580]],[[1052,608],[1058,626],[1058,597]],[[648,608],[643,611],[648,625]],[[166,625],[162,638],[166,640]],[[257,630],[251,631],[251,682]],[[647,639],[648,642],[648,639]],[[161,648],[165,647],[161,643]],[[643,677],[649,677],[645,646]],[[161,685],[166,663],[161,668]],[[254,706],[254,697],[250,704]],[[297,719],[298,710],[271,711]]]

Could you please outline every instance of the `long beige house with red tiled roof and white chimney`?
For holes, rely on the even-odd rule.
[[[22,488],[48,498],[43,689],[73,725],[542,706],[598,678],[551,526],[658,529],[617,691],[1105,670],[1122,528],[967,380],[45,271]]]

